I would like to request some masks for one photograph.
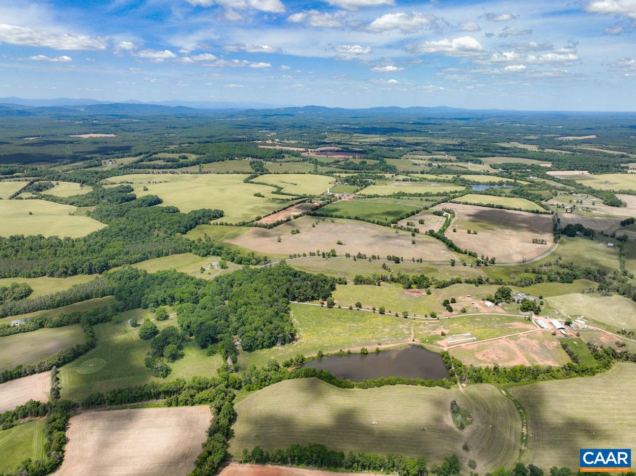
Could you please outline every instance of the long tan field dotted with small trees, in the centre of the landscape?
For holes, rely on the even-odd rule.
[[[312,227],[312,223],[315,227]],[[291,234],[291,230],[300,230]],[[280,237],[280,242],[278,242]],[[342,220],[340,218],[315,218],[303,216],[288,221],[275,228],[252,228],[228,242],[261,253],[289,255],[328,252],[332,248],[338,255],[365,253],[366,255],[404,256],[423,258],[427,261],[448,261],[455,258],[441,242],[420,235],[411,243],[411,234],[401,230],[373,225],[363,221]],[[342,245],[336,244],[338,240]]]

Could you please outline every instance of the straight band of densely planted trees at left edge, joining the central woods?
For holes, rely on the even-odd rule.
[[[16,284],[16,283],[13,283]],[[13,286],[13,284],[11,286]],[[32,289],[28,284],[24,284],[29,290]],[[2,293],[0,288],[0,296]],[[28,294],[31,294],[29,291]],[[93,298],[102,298],[112,294],[112,290],[108,284],[108,281],[104,278],[95,278],[93,281],[85,282],[83,284],[76,284],[73,288],[66,289],[64,291],[58,291],[53,294],[46,294],[45,296],[38,296],[37,298],[11,300],[0,305],[0,317],[8,317],[10,315],[28,314],[29,312],[36,312],[45,309],[54,309],[69,304],[77,303],[79,301],[86,301]],[[1,300],[0,300],[1,302]]]

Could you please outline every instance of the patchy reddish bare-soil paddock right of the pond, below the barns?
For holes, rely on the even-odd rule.
[[[534,327],[533,324],[530,326]],[[570,362],[558,339],[548,331],[468,344],[452,348],[450,353],[464,364],[481,367],[492,367],[495,364],[502,367],[519,365],[558,367]]]

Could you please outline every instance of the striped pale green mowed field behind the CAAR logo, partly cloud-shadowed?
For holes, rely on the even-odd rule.
[[[528,418],[522,463],[577,468],[579,448],[636,447],[636,364],[593,377],[531,383],[508,390]]]

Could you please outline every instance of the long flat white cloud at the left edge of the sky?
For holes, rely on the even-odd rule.
[[[0,23],[0,43],[21,46],[44,46],[53,50],[104,50],[106,38],[91,38],[72,33],[57,34],[46,30]]]

